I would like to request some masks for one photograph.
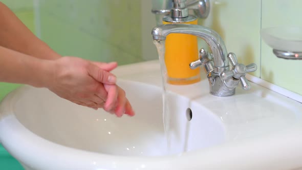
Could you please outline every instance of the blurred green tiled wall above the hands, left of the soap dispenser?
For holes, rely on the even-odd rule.
[[[40,0],[41,39],[62,55],[143,61],[140,0]]]

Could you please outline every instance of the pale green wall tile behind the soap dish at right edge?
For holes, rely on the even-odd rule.
[[[262,28],[298,26],[300,22],[300,0],[262,0]],[[277,58],[264,41],[261,45],[261,78],[277,86],[302,95],[300,84],[301,60]]]

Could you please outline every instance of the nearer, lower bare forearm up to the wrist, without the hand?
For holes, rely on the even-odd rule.
[[[52,62],[0,46],[0,82],[46,87],[53,75]]]

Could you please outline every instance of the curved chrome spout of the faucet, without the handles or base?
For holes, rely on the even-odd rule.
[[[152,30],[153,39],[165,40],[170,33],[191,34],[204,39],[209,45],[214,60],[214,71],[229,70],[227,50],[221,36],[214,30],[200,25],[168,24],[160,25]]]

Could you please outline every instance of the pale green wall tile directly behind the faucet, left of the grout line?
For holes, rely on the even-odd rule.
[[[260,66],[261,0],[210,1],[210,14],[200,19],[199,25],[210,27],[225,41],[228,52],[236,54],[238,61]],[[251,73],[260,77],[260,69]]]

